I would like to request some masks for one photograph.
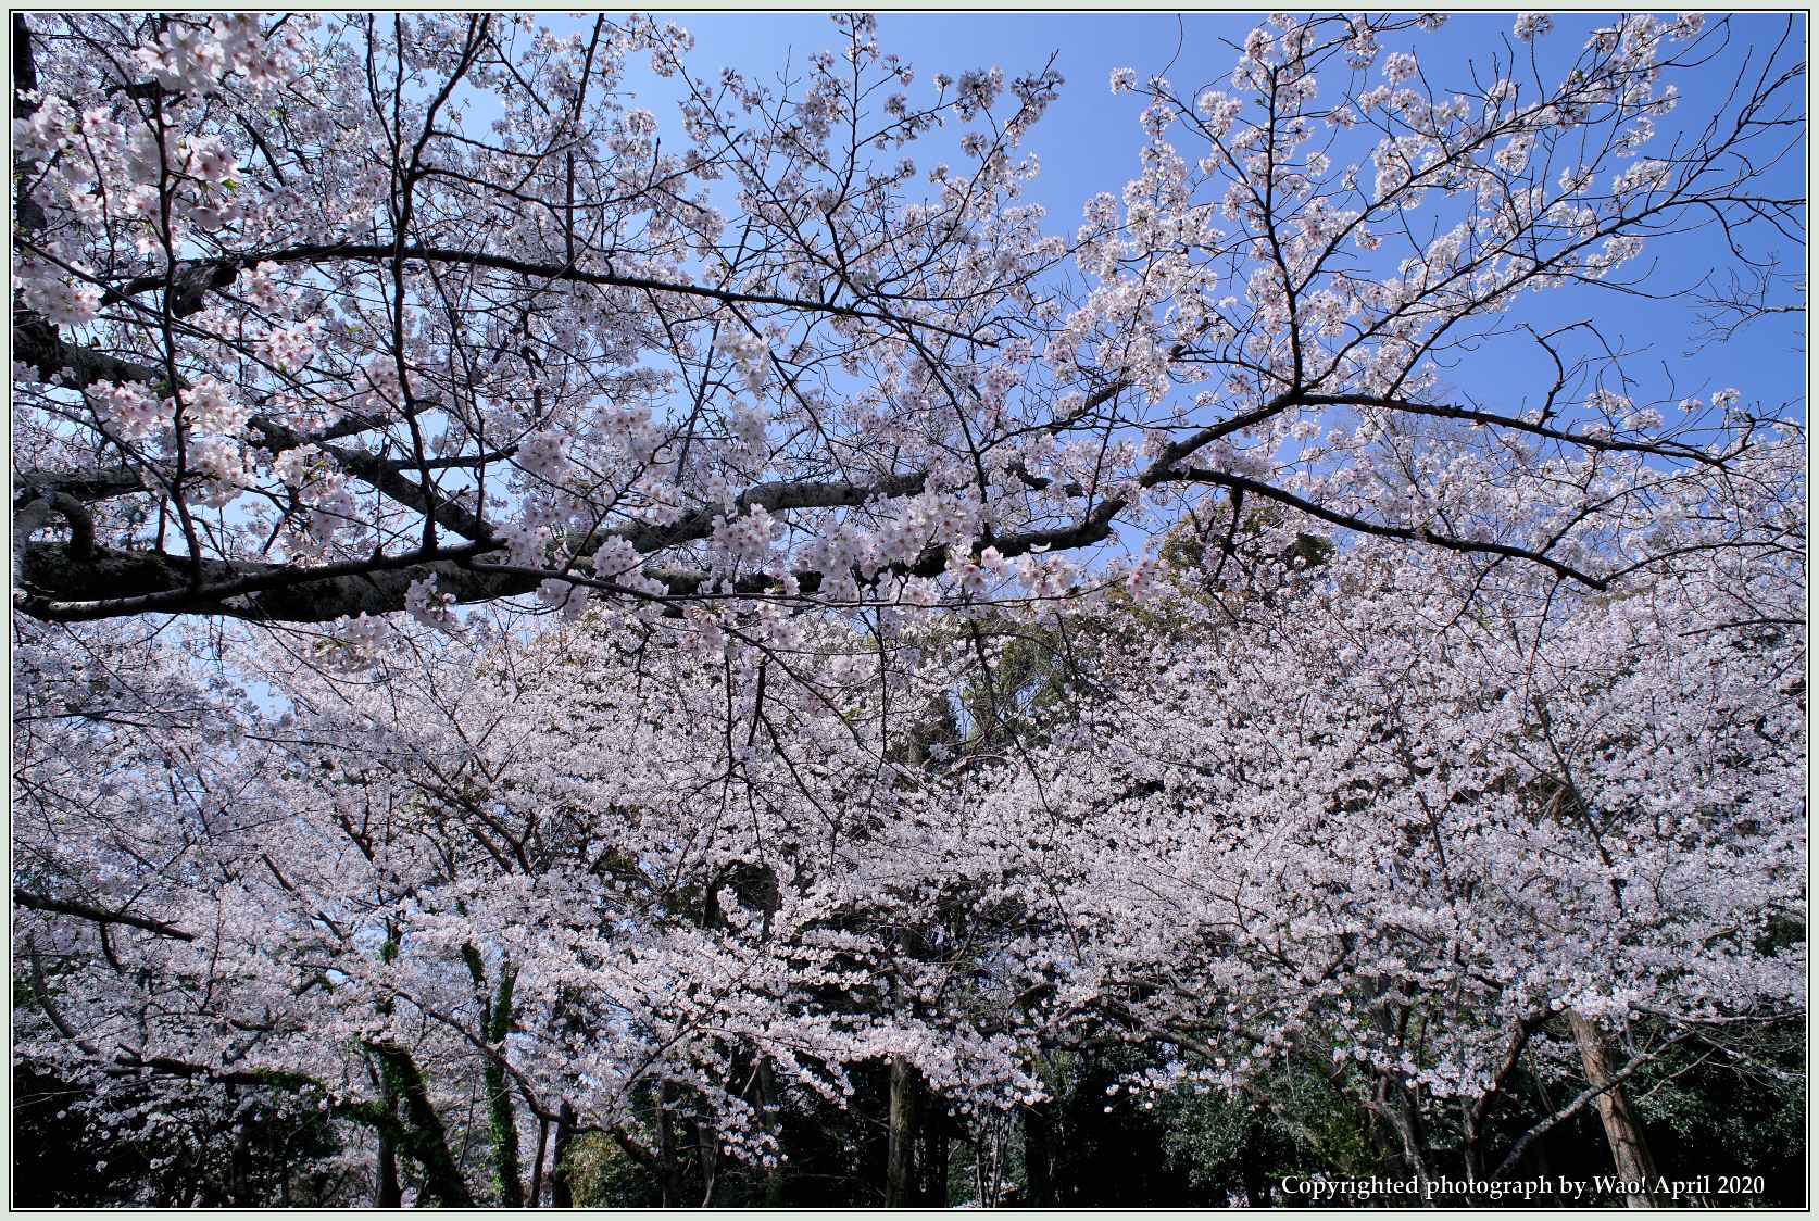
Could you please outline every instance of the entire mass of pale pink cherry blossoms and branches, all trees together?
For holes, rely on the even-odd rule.
[[[1062,224],[1053,62],[869,16],[15,16],[15,1061],[327,1203],[713,1201],[880,1066],[910,1203],[1102,1044],[1648,1170],[1804,1015],[1804,429],[1550,302],[1799,244],[1803,66],[1497,20],[1121,67]]]

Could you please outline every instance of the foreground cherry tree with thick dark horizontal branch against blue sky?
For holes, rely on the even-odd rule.
[[[1755,184],[1799,66],[1670,136],[1723,27],[1453,82],[1437,24],[1282,18],[1221,87],[1144,82],[1142,175],[1066,238],[1020,202],[1059,76],[919,86],[871,18],[780,86],[642,18],[20,18],[16,604],[895,604],[1066,586],[1208,497],[1608,582],[1643,557],[1597,553],[1599,510],[1752,417],[1632,402],[1592,331],[1512,311],[1633,288],[1688,227],[1797,229]],[[635,55],[680,138],[624,104]],[[959,166],[917,162],[955,127]],[[1517,331],[1533,386],[1448,388]],[[1468,466],[1404,473],[1439,424]],[[1553,504],[1473,520],[1548,464]]]

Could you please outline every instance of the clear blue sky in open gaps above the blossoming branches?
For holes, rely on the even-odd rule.
[[[824,13],[677,13],[666,18],[695,35],[689,62],[693,71],[706,76],[729,66],[751,76],[773,78],[786,62],[800,66],[806,55],[839,45],[839,33]],[[1670,142],[1677,127],[1715,111],[1744,66],[1752,60],[1759,64],[1788,33],[1790,20],[1792,42],[1783,51],[1784,60],[1804,55],[1804,15],[1734,16],[1728,45],[1697,73],[1673,76],[1683,102],[1659,124],[1655,147]],[[882,13],[879,44],[917,67],[913,95],[931,89],[928,82],[937,71],[957,75],[970,67],[999,66],[1006,75],[1019,75],[1039,69],[1055,53],[1068,84],[1024,147],[1042,160],[1042,178],[1031,189],[1031,198],[1048,206],[1053,231],[1071,235],[1084,200],[1099,191],[1119,191],[1137,173],[1137,149],[1144,140],[1137,126],[1142,98],[1111,96],[1106,86],[1111,69],[1133,67],[1141,78],[1168,69],[1177,93],[1191,96],[1199,86],[1230,75],[1235,51],[1226,44],[1242,42],[1261,22],[1259,15],[1228,13]],[[1537,44],[1539,67],[1550,80],[1577,56],[1586,35],[1608,18],[1563,13],[1555,15],[1555,31]],[[562,22],[553,24],[562,27]],[[1473,80],[1473,67],[1479,80],[1484,80],[1490,55],[1506,55],[1510,25],[1508,13],[1457,15],[1439,33],[1417,35],[1410,45],[1417,49],[1422,71],[1437,89],[1466,87]],[[1401,44],[1386,45],[1399,47]],[[666,113],[662,106],[669,93],[668,82],[657,80],[637,62],[631,69],[628,84],[642,95],[638,104],[658,113],[664,127],[671,127],[673,111]],[[937,158],[930,153],[919,155],[919,164],[933,160]],[[1804,197],[1806,166],[1799,151],[1774,167],[1770,186],[1779,195]],[[1790,269],[1804,271],[1804,251],[1784,240],[1757,238],[1750,253],[1777,255]],[[1650,280],[1653,291],[1690,288],[1728,262],[1715,231],[1659,244],[1653,257],[1659,258]],[[1724,344],[1708,344],[1688,355],[1701,326],[1684,300],[1659,302],[1597,289],[1553,291],[1528,300],[1533,304],[1524,304],[1524,309],[1532,311],[1530,320],[1537,326],[1595,318],[1606,338],[1633,353],[1626,360],[1626,371],[1643,380],[1639,389],[1644,393],[1635,395],[1639,400],[1668,393],[1679,399],[1737,386],[1744,391],[1746,404],[1759,402],[1772,413],[1804,419],[1803,315],[1770,317]],[[1470,369],[1459,368],[1452,377],[1461,389],[1493,399],[1506,386],[1532,386],[1537,380],[1535,357],[1539,351],[1532,344],[1502,344],[1473,357]]]

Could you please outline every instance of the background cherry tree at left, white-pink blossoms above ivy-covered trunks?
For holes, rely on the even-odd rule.
[[[939,886],[877,828],[935,819],[851,646],[815,648],[819,686],[755,650],[640,666],[593,621],[529,666],[509,639],[378,668],[273,653],[238,670],[289,708],[233,717],[176,677],[22,653],[15,901],[44,1004],[18,1054],[302,1092],[444,1205],[522,1203],[520,1143],[542,1174],[553,1134],[669,1168],[678,1117],[775,1165],[775,1112],[839,1103],[859,1061],[1024,1097],[1004,1032],[917,1003],[953,968],[895,930]],[[484,1190],[444,1121],[464,1106]]]

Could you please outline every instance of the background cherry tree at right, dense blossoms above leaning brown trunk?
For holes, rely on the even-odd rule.
[[[1330,1052],[1421,1179],[1595,1105],[1653,1183],[1623,1079],[1804,1012],[1801,444],[1730,506],[1746,560],[1683,535],[1621,595],[1535,597],[1373,544],[1106,637],[1079,721],[962,799],[951,855],[1035,917],[1022,983],[1173,1046],[1137,1092]],[[1519,1070],[1577,1085],[1486,1148]]]

